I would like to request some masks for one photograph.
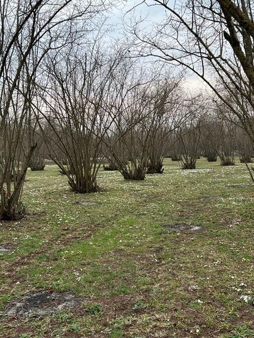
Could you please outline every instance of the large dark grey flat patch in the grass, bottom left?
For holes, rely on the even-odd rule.
[[[62,309],[75,308],[82,300],[68,292],[30,293],[22,300],[13,302],[5,315],[14,317],[42,317]]]

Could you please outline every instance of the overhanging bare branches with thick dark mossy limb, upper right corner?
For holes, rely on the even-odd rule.
[[[148,0],[145,3],[161,6],[165,20],[148,34],[139,29],[139,23],[135,25],[138,55],[155,56],[192,71],[238,118],[254,142],[252,2]]]

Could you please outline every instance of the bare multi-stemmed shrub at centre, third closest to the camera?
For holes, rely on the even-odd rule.
[[[153,82],[143,69],[136,69],[131,62],[122,66],[118,76],[111,105],[114,121],[107,132],[108,152],[125,180],[144,180],[152,123]],[[119,154],[119,146],[122,154]]]

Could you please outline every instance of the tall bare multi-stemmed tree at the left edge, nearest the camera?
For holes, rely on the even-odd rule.
[[[3,1],[0,6],[0,217],[23,217],[23,183],[36,143],[27,141],[32,84],[41,61],[84,30],[98,5],[60,0]],[[82,35],[82,34],[81,34]]]

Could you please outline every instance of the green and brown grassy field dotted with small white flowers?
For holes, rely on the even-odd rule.
[[[198,160],[102,192],[69,190],[55,166],[29,172],[27,218],[0,224],[0,337],[254,337],[254,187],[244,165]],[[78,202],[93,202],[81,205]],[[198,231],[170,231],[189,224]],[[75,309],[5,315],[27,293],[71,291]]]

